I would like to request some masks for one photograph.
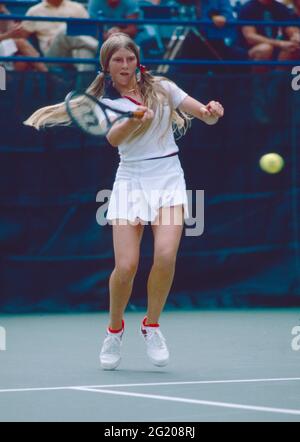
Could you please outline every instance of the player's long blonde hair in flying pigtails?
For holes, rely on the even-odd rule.
[[[104,95],[106,76],[108,75],[110,59],[116,51],[123,48],[133,52],[137,58],[137,66],[140,65],[139,48],[134,43],[134,41],[126,34],[113,34],[103,43],[101,47],[100,64],[103,72],[100,72],[95,80],[92,82],[92,84],[87,88],[86,92],[88,94],[93,95],[94,97],[99,99]],[[152,109],[154,112],[158,110],[159,121],[161,121],[161,118],[165,111],[164,105],[165,103],[167,103],[169,108],[171,109],[169,126],[172,124],[174,132],[178,133],[179,136],[182,136],[190,127],[192,117],[185,114],[184,112],[177,111],[174,108],[171,97],[160,84],[162,80],[167,80],[171,82],[165,77],[153,76],[147,70],[141,71],[139,86],[143,98],[143,104],[149,109]],[[57,125],[68,126],[71,124],[71,119],[67,114],[65,103],[62,102],[38,109],[26,121],[24,121],[24,124],[27,126],[32,126],[39,130],[40,128]],[[130,135],[129,140],[131,141],[137,136],[145,133],[150,125],[151,120],[148,120]],[[163,136],[164,135],[165,134],[163,134]]]

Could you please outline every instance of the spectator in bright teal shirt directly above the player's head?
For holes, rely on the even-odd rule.
[[[92,18],[142,18],[138,0],[89,0],[88,11]],[[141,58],[143,58],[156,45],[156,40],[151,31],[150,26],[137,26],[135,24],[104,26],[103,38],[106,40],[116,32],[124,32],[134,39],[140,47]]]

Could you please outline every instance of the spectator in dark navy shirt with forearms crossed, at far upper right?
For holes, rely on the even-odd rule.
[[[250,0],[239,11],[240,20],[291,20],[287,6],[276,0]],[[240,41],[252,60],[294,60],[300,55],[300,34],[297,27],[243,26]],[[256,72],[266,71],[256,67]]]

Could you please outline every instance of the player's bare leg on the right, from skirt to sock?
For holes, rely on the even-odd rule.
[[[147,284],[148,324],[159,321],[169,295],[174,279],[176,255],[184,224],[182,205],[162,207],[158,216],[160,222],[152,226],[154,261]],[[164,220],[170,220],[170,222],[166,223]]]

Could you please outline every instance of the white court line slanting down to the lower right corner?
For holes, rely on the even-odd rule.
[[[243,405],[243,404],[235,404],[230,402],[203,401],[198,399],[188,399],[188,398],[181,398],[175,396],[160,396],[154,394],[129,393],[127,391],[99,390],[99,389],[79,388],[79,387],[75,388],[75,390],[88,391],[92,393],[111,394],[116,396],[131,396],[143,399],[145,398],[156,399],[160,401],[183,402],[185,404],[206,405],[206,406],[221,407],[221,408],[235,408],[238,410],[263,411],[267,413],[292,414],[295,416],[300,416],[300,410],[293,410],[289,408],[259,407],[255,405]]]

